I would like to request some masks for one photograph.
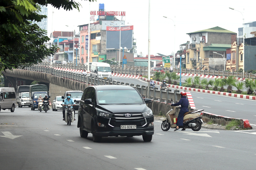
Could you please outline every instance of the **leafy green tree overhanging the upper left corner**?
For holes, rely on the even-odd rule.
[[[94,1],[94,0],[89,0]],[[57,47],[49,49],[44,45],[49,41],[46,31],[37,24],[45,15],[37,14],[40,5],[51,4],[55,8],[79,10],[80,3],[70,0],[4,0],[0,2],[0,71],[30,66],[54,54]]]

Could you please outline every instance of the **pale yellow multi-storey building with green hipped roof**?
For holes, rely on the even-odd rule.
[[[191,43],[186,44],[186,57],[182,59],[187,69],[225,70],[223,55],[226,58],[226,49],[236,40],[236,33],[214,27],[187,34]]]

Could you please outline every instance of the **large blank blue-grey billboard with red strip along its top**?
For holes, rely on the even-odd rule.
[[[121,27],[121,47],[132,49],[133,26]],[[120,29],[119,27],[106,27],[106,49],[119,49]]]

